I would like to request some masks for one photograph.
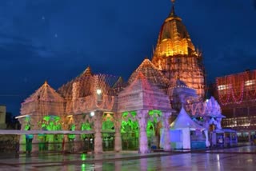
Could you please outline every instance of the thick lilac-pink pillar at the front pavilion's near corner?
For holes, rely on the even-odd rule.
[[[146,137],[146,125],[149,117],[148,110],[138,110],[137,120],[139,125],[139,149],[138,153],[149,153],[148,141]]]

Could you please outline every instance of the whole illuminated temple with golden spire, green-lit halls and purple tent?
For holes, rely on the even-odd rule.
[[[58,89],[44,82],[22,102],[18,120],[22,130],[34,134],[32,151],[65,150],[71,145],[74,151],[149,153],[159,147],[190,149],[218,143],[224,116],[214,97],[204,101],[202,53],[172,2],[152,60],[142,61],[128,82],[94,74],[87,67]],[[208,131],[214,135],[211,141]],[[177,135],[182,136],[172,139]],[[23,144],[25,135],[20,137],[21,151]]]

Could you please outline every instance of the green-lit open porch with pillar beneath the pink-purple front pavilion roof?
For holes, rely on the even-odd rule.
[[[138,110],[122,113],[122,149],[147,153],[158,148],[163,121],[161,110]],[[168,121],[167,121],[168,122]],[[160,126],[159,126],[160,125]],[[143,149],[143,151],[141,151]]]

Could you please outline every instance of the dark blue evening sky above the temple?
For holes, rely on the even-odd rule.
[[[151,58],[169,0],[1,0],[0,104],[20,103],[45,80],[58,89],[91,66],[127,80]],[[203,52],[208,80],[256,68],[254,0],[177,0]]]

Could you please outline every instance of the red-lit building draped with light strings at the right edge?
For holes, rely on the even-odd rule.
[[[240,141],[249,141],[256,130],[256,70],[216,78],[222,127],[236,129]]]

